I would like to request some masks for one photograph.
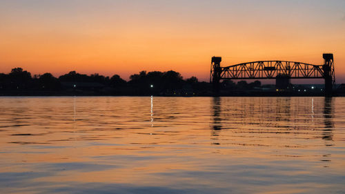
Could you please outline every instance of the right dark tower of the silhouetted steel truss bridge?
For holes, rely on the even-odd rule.
[[[333,86],[335,86],[335,72],[334,72],[334,62],[333,54],[324,53],[322,56],[324,58],[324,65],[322,70],[324,70],[324,86],[326,97],[332,96]]]

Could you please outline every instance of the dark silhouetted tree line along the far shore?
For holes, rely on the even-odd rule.
[[[227,80],[222,88],[253,88],[259,81],[235,84]],[[179,72],[141,71],[130,75],[126,81],[119,75],[112,77],[84,75],[75,71],[54,77],[46,72],[32,76],[23,68],[13,68],[10,73],[0,73],[0,95],[167,95],[167,96],[208,96],[212,86],[197,77],[184,79]]]

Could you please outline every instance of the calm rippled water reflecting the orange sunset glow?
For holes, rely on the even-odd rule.
[[[0,193],[345,193],[345,98],[0,97]]]

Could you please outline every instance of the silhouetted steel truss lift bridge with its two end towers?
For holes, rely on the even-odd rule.
[[[296,61],[253,61],[221,67],[221,57],[212,57],[210,82],[213,92],[219,95],[220,81],[224,79],[276,79],[276,85],[288,86],[290,79],[324,79],[326,96],[332,95],[335,86],[333,54],[322,56],[324,64],[313,65]]]

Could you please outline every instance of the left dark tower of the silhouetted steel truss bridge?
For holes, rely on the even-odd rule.
[[[210,82],[213,84],[213,95],[219,96],[219,86],[221,79],[221,57],[212,57],[211,70],[210,70]]]

